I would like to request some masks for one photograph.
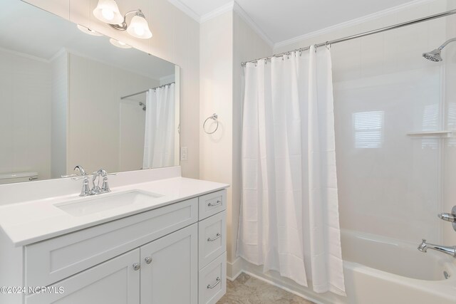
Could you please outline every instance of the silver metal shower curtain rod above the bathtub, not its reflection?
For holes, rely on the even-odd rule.
[[[343,38],[338,38],[338,39],[335,39],[335,40],[326,41],[325,43],[318,43],[315,46],[318,48],[320,46],[326,46],[328,44],[331,45],[331,44],[335,44],[335,43],[339,43],[339,42],[343,42],[343,41],[349,41],[349,40],[352,40],[352,39],[373,35],[374,33],[382,33],[384,31],[390,31],[390,30],[393,30],[393,29],[396,29],[396,28],[402,28],[403,26],[411,26],[411,25],[416,24],[416,23],[421,23],[421,22],[424,22],[424,21],[430,21],[432,19],[438,19],[438,18],[442,18],[442,17],[454,15],[454,14],[456,14],[456,9],[452,9],[450,11],[445,11],[445,12],[440,13],[440,14],[435,14],[435,15],[423,17],[423,18],[420,18],[420,19],[415,19],[415,20],[412,20],[412,21],[398,23],[398,24],[395,24],[394,26],[386,26],[384,28],[378,28],[378,29],[373,30],[373,31],[366,31],[364,33],[358,33],[358,34],[353,35],[353,36],[347,36],[347,37],[343,37]],[[284,53],[275,54],[273,56],[268,56],[268,57],[264,57],[264,58],[255,59],[253,61],[243,62],[243,63],[241,63],[241,65],[245,66],[247,63],[257,63],[260,60],[266,60],[267,61],[267,60],[269,60],[269,59],[271,59],[273,57],[281,57],[281,56],[284,56],[284,55],[289,55],[289,54],[291,54],[293,52],[307,51],[307,50],[309,50],[309,48],[311,48],[311,47],[310,46],[306,46],[305,48],[296,48],[296,50],[293,50],[293,51],[287,51],[287,52],[284,52]]]

